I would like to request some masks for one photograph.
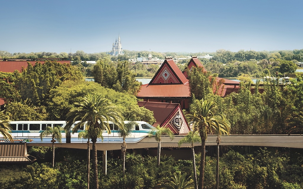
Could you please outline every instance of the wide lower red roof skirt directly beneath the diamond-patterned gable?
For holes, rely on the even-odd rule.
[[[178,85],[141,85],[137,97],[190,97],[189,83]]]

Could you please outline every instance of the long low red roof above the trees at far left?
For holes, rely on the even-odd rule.
[[[61,64],[70,64],[70,60],[56,60]],[[0,61],[0,72],[14,72],[18,70],[21,72],[22,67],[27,68],[27,62],[35,66],[37,61]],[[45,61],[39,61],[41,64],[44,64]]]

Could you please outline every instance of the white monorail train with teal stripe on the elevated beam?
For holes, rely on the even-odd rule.
[[[125,121],[127,123],[128,121]],[[128,143],[136,143],[142,140],[148,135],[148,132],[154,130],[155,127],[151,126],[147,122],[136,121],[133,125],[132,133],[125,138]],[[76,123],[74,123],[76,124]],[[40,139],[40,133],[43,132],[46,127],[61,126],[65,127],[65,121],[10,121],[12,137],[16,142],[31,142],[31,143],[47,143],[52,140],[51,136],[46,136]],[[122,143],[123,138],[119,136],[118,126],[113,122],[109,122],[111,134],[107,131],[103,131],[102,138],[98,138],[97,142],[100,143]],[[85,130],[84,126],[78,130],[77,133],[72,134],[67,137],[65,131],[62,131],[62,142],[72,142],[72,143],[86,143],[87,139],[78,138],[78,133]],[[72,132],[72,131],[71,131]],[[0,142],[9,142],[8,139],[3,138],[0,134]]]

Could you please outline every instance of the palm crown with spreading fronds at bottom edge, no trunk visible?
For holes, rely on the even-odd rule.
[[[186,178],[186,173],[181,174],[179,171],[178,174],[174,173],[174,176],[171,177],[171,181],[165,183],[163,189],[193,189],[193,181],[190,177]]]

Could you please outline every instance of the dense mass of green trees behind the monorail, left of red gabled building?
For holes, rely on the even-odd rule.
[[[91,93],[102,94],[112,101],[121,109],[125,120],[154,123],[153,112],[139,107],[133,95],[140,83],[128,70],[128,64],[120,65],[113,68],[115,90],[96,82],[85,82],[77,66],[56,61],[28,64],[21,73],[0,72],[0,97],[9,102],[1,110],[10,112],[10,119],[15,121],[65,120],[74,103],[82,102],[83,96]],[[95,74],[102,73],[97,70]]]

